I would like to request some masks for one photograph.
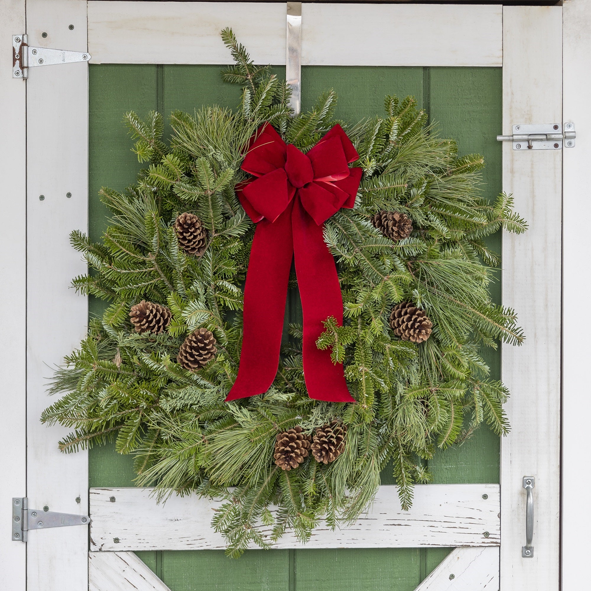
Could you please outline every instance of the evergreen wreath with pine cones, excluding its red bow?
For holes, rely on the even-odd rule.
[[[66,394],[42,420],[73,428],[63,452],[115,439],[117,452],[135,454],[137,484],[160,498],[221,496],[212,525],[239,556],[287,528],[306,541],[321,519],[354,521],[389,464],[407,509],[413,483],[430,480],[421,458],[482,423],[508,431],[509,393],[489,378],[480,348],[524,337],[514,311],[492,303],[499,257],[484,239],[527,225],[510,196],[480,197],[483,158],[459,157],[413,98],[387,96],[384,116],[339,122],[363,177],[354,209],[325,224],[345,321],[327,318],[317,346],[345,363],[356,403],[308,397],[296,324],[268,392],[224,402],[238,372],[254,233],[234,189],[248,177],[245,147],[269,122],[305,153],[336,124],[336,96],[293,116],[286,83],[255,66],[231,30],[222,38],[235,61],[223,79],[243,86],[235,111],[173,112],[170,141],[159,113],[125,115],[148,167],[123,193],[100,191],[112,212],[100,243],[71,235],[92,269],[74,287],[110,305],[57,369],[51,392]]]

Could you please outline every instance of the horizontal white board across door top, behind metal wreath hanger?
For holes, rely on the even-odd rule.
[[[225,2],[90,0],[92,62],[226,64],[230,54],[219,33],[232,27],[256,63],[285,64],[285,3],[229,7]],[[502,7],[304,4],[302,64],[501,66]]]

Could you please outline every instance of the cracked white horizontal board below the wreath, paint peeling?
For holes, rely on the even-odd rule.
[[[151,488],[90,489],[90,550],[219,550],[212,530],[219,502],[172,496],[158,505]],[[483,499],[482,495],[488,495]],[[111,497],[115,498],[111,502]],[[371,511],[351,527],[320,525],[302,545],[288,532],[275,548],[412,548],[495,546],[500,540],[499,485],[417,485],[413,507],[402,511],[395,486],[381,486]],[[261,525],[261,532],[271,528]],[[488,536],[485,535],[488,532]],[[115,539],[118,542],[115,542]],[[253,546],[256,547],[256,546]]]

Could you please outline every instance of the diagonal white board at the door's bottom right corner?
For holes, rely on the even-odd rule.
[[[499,548],[460,547],[415,591],[498,591]]]

